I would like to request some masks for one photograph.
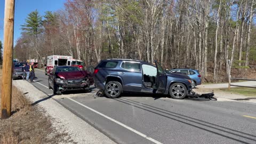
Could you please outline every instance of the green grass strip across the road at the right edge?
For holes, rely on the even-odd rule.
[[[229,93],[235,93],[235,94],[240,94],[240,95],[245,95],[245,96],[250,96],[250,97],[256,97],[256,89],[255,88],[231,87],[230,90],[228,88],[221,88],[218,90],[222,91],[222,92],[229,92]]]

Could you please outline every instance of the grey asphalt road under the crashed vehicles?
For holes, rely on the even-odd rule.
[[[36,77],[37,89],[117,143],[256,143],[256,103],[149,94],[108,99],[84,91],[53,95],[48,76],[36,70]]]

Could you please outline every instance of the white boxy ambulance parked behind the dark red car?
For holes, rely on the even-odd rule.
[[[47,57],[45,75],[50,74],[54,66],[71,66],[71,56],[64,55],[50,55]]]

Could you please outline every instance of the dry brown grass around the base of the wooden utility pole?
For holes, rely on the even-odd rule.
[[[2,82],[2,69],[0,69],[0,81]],[[8,119],[0,119],[0,132],[2,144],[73,143],[65,132],[60,133],[52,126],[51,118],[47,117],[42,109],[31,106],[31,101],[14,86],[12,116]]]

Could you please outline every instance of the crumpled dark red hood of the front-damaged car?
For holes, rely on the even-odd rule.
[[[81,79],[90,75],[87,71],[70,71],[70,72],[59,72],[56,74],[62,79]]]

